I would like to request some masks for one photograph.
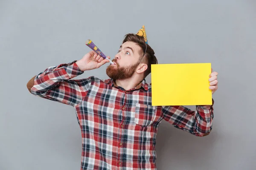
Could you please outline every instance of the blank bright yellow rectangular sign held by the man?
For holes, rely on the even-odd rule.
[[[211,63],[151,65],[152,105],[212,105]]]

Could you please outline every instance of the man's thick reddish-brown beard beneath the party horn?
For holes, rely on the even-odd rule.
[[[115,61],[115,59],[113,59],[113,61]],[[125,66],[125,67],[120,67],[119,65],[116,65],[116,66],[109,65],[106,70],[106,73],[107,73],[108,77],[115,79],[115,80],[128,79],[128,78],[132,77],[132,75],[136,71],[138,64],[139,63],[136,63],[134,65]]]

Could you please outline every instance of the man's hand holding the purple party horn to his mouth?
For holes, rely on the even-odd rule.
[[[110,59],[109,56],[108,58]],[[87,71],[99,68],[107,62],[109,62],[108,59],[104,59],[95,51],[90,51],[89,53],[85,54],[82,59],[76,61],[76,64],[78,65],[81,71]]]

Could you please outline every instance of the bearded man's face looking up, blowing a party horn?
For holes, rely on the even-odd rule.
[[[109,65],[106,72],[108,77],[112,79],[128,79],[132,77],[140,64],[140,46],[135,42],[125,42],[112,61],[116,65]]]

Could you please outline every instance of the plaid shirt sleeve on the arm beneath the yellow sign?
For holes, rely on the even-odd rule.
[[[212,130],[213,104],[212,99],[212,105],[197,105],[196,111],[184,106],[162,106],[163,119],[195,136],[206,136]]]

